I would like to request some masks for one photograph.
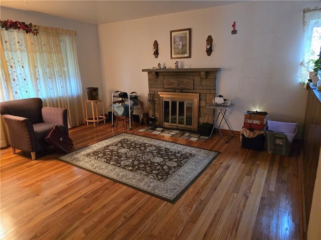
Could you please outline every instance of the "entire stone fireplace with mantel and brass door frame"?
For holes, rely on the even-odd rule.
[[[203,122],[212,123],[213,119],[206,104],[212,104],[212,100],[216,96],[217,71],[220,70],[221,68],[142,69],[142,71],[148,72],[149,93],[155,94],[155,104],[148,102],[149,116],[155,117],[155,125],[197,131],[198,126]],[[180,96],[180,94],[176,93],[189,94]],[[179,122],[179,116],[177,116],[177,120],[174,120],[174,122],[176,121],[174,125],[168,124],[169,121],[172,121],[168,120],[168,118],[164,121],[164,96],[167,97],[165,104],[171,104],[172,111],[176,104],[177,107],[184,105],[184,111],[188,114],[184,121],[181,120]],[[198,100],[195,100],[196,98]],[[191,102],[198,104],[193,106],[193,110]],[[155,115],[153,115],[153,106],[155,106]],[[189,111],[193,111],[191,117],[191,112]],[[177,115],[180,115],[180,119],[182,119],[180,112],[177,111]],[[190,119],[193,119],[192,126],[190,125]],[[184,124],[179,124],[182,122]]]

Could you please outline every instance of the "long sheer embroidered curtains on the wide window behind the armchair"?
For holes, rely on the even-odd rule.
[[[37,36],[1,29],[0,101],[40,97],[45,106],[68,109],[69,127],[85,123],[76,32],[38,29]]]

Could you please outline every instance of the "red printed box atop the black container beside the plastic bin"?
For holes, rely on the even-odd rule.
[[[269,115],[266,111],[245,111],[244,127],[263,130],[267,126]]]

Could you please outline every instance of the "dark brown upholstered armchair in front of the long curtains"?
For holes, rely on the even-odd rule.
[[[4,101],[0,109],[8,126],[13,154],[16,149],[30,151],[35,160],[36,151],[49,145],[45,136],[55,124],[68,134],[67,109],[43,107],[41,98]]]

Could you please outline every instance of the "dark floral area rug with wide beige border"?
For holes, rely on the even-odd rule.
[[[211,150],[121,133],[58,159],[174,203],[218,154]]]

